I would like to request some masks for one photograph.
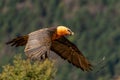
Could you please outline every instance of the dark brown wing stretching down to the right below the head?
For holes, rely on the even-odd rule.
[[[90,62],[83,56],[79,49],[65,37],[53,41],[51,50],[76,67],[81,68],[83,71],[92,70]]]

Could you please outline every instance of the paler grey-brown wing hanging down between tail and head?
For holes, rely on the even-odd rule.
[[[49,53],[51,38],[46,29],[34,31],[29,34],[25,47],[25,54],[30,59],[45,59]]]

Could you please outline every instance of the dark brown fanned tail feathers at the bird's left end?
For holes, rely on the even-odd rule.
[[[12,39],[11,41],[6,42],[6,44],[7,45],[10,44],[11,46],[18,47],[18,46],[26,45],[27,41],[28,41],[28,35],[24,35],[24,36],[18,36]]]

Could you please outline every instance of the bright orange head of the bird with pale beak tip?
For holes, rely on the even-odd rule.
[[[74,32],[72,32],[66,26],[58,26],[57,27],[57,35],[59,35],[59,36],[74,35]]]

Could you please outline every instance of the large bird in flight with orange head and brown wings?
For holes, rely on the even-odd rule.
[[[73,34],[66,26],[43,28],[27,35],[18,36],[8,41],[7,44],[15,47],[25,46],[26,56],[35,60],[44,60],[48,58],[48,54],[52,54],[50,51],[53,51],[83,71],[90,71],[92,70],[91,63],[76,45],[65,37]]]

